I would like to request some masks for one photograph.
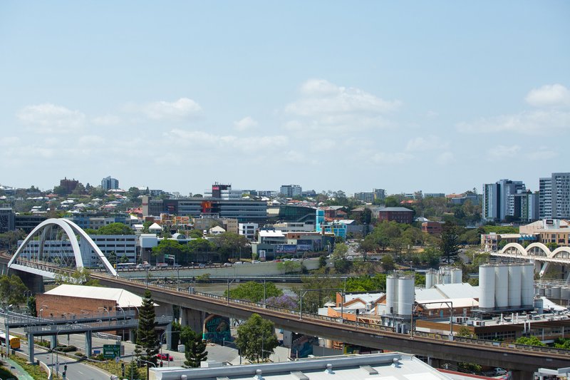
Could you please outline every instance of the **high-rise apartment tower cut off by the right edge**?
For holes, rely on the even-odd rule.
[[[570,173],[552,173],[539,179],[540,218],[566,219],[570,217]]]

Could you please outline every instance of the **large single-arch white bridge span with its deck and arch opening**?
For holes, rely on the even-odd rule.
[[[41,222],[26,236],[8,262],[8,269],[54,278],[54,266],[82,269],[86,263],[117,275],[113,265],[81,227],[68,219],[53,218]]]

